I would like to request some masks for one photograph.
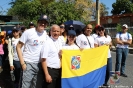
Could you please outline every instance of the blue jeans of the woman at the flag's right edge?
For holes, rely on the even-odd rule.
[[[106,68],[106,76],[105,76],[105,83],[104,84],[108,83],[108,80],[109,80],[110,75],[111,75],[111,71],[112,71],[112,58],[110,57],[107,59],[107,68]]]

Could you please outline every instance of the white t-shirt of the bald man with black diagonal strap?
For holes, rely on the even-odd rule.
[[[76,43],[80,48],[84,49],[94,48],[94,38],[92,36],[86,37],[84,34],[81,34],[76,38]]]

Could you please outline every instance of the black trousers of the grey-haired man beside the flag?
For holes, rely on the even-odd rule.
[[[48,67],[49,75],[52,77],[52,83],[47,83],[44,77],[43,88],[61,88],[61,69]]]

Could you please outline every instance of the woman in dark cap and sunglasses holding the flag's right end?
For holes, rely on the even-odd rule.
[[[112,41],[111,37],[105,33],[104,27],[100,26],[98,28],[98,36],[95,39],[94,46],[95,47],[99,47],[102,45],[111,46],[112,45],[111,41]],[[106,77],[105,77],[105,82],[103,84],[103,86],[105,86],[105,87],[109,87],[109,85],[107,83],[110,78],[111,71],[112,71],[112,58],[111,58],[111,53],[110,53],[110,49],[109,49],[108,57],[107,57]]]

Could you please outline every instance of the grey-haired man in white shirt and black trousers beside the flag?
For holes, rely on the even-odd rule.
[[[53,25],[50,29],[50,35],[41,50],[42,68],[45,75],[43,88],[61,88],[59,52],[62,49],[62,42],[59,39],[60,27]]]

